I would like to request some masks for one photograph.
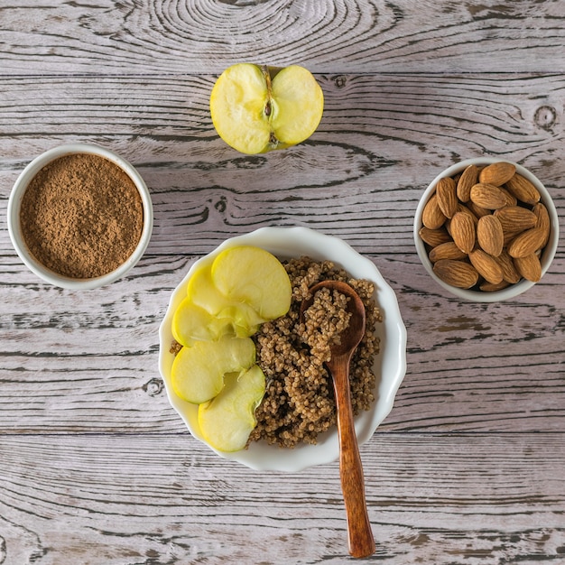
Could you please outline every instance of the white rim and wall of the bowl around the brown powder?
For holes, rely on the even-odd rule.
[[[114,271],[102,276],[88,279],[76,279],[63,276],[51,271],[51,269],[48,269],[37,261],[37,259],[30,253],[27,245],[25,245],[25,240],[23,239],[22,229],[20,226],[20,208],[22,205],[23,194],[33,177],[35,177],[35,175],[51,161],[59,159],[65,155],[76,153],[98,155],[100,157],[105,157],[108,161],[114,162],[118,167],[120,167],[120,169],[125,171],[132,181],[134,181],[135,187],[139,190],[139,195],[142,199],[144,208],[144,227],[139,243],[134,249],[134,253],[127,258],[124,264],[121,264]],[[153,204],[151,201],[151,195],[149,194],[149,190],[147,189],[143,178],[139,172],[134,169],[134,166],[125,161],[123,157],[120,157],[116,153],[105,149],[104,147],[94,144],[65,144],[42,153],[33,159],[33,161],[30,162],[25,169],[23,169],[22,173],[15,181],[14,188],[10,194],[10,199],[8,200],[8,231],[16,253],[20,256],[23,263],[26,264],[30,271],[37,274],[37,276],[42,278],[43,281],[54,284],[55,286],[60,286],[61,288],[72,290],[93,289],[109,284],[110,282],[114,282],[116,279],[124,276],[125,273],[130,271],[130,269],[134,267],[134,264],[141,259],[142,255],[144,255],[153,231]]]

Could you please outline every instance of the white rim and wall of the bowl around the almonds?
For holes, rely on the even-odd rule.
[[[514,298],[522,292],[527,291],[528,289],[532,288],[535,282],[527,281],[526,279],[522,279],[520,282],[516,282],[515,284],[511,284],[507,286],[505,289],[496,292],[482,292],[482,291],[474,291],[474,290],[466,290],[466,289],[459,289],[455,286],[451,286],[447,282],[442,281],[436,273],[433,272],[433,264],[428,257],[428,253],[426,251],[426,247],[424,242],[421,240],[419,235],[419,231],[423,226],[421,221],[421,216],[423,212],[423,208],[425,207],[428,200],[431,198],[431,195],[434,193],[436,189],[436,185],[440,179],[445,177],[452,177],[459,172],[465,171],[469,165],[477,165],[477,166],[485,166],[491,164],[493,162],[511,162],[516,167],[516,172],[521,174],[525,177],[528,181],[532,182],[533,185],[537,190],[539,190],[541,195],[541,201],[547,208],[547,211],[550,215],[551,221],[551,231],[550,231],[550,238],[545,245],[542,253],[542,257],[540,259],[542,263],[542,275],[547,272],[549,269],[551,262],[553,261],[553,257],[555,256],[555,251],[557,250],[557,244],[559,241],[559,219],[557,216],[557,210],[555,209],[555,204],[553,204],[553,200],[551,199],[551,195],[548,190],[543,186],[542,182],[537,179],[532,172],[524,169],[522,165],[519,165],[516,162],[507,161],[499,158],[494,157],[479,157],[477,159],[468,159],[467,161],[458,162],[452,166],[450,166],[445,171],[440,172],[440,174],[431,181],[428,188],[424,191],[421,196],[420,202],[418,203],[418,208],[416,209],[416,214],[414,217],[414,228],[413,228],[413,235],[414,235],[414,243],[416,245],[416,251],[418,252],[418,256],[420,257],[421,264],[425,267],[426,271],[430,274],[431,278],[437,282],[441,287],[446,289],[447,291],[451,292],[458,296],[458,298],[462,298],[468,301],[476,301],[476,302],[497,302],[497,301],[505,301],[510,298]]]

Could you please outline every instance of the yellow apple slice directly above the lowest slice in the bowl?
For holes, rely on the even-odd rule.
[[[172,388],[189,403],[206,403],[224,387],[224,375],[240,373],[254,364],[255,343],[251,338],[196,341],[182,347],[174,358]]]

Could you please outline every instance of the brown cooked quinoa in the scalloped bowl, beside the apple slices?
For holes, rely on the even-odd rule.
[[[282,264],[292,282],[292,304],[285,316],[264,323],[254,336],[257,364],[267,385],[249,441],[266,440],[292,448],[301,442],[316,443],[318,434],[336,423],[333,384],[324,363],[350,317],[347,297],[324,289],[316,293],[301,323],[301,302],[310,297],[310,287],[324,280],[347,282],[365,304],[366,332],[349,372],[354,414],[368,410],[375,401],[373,364],[379,351],[375,328],[382,317],[373,297],[373,282],[352,279],[333,263],[309,257]]]

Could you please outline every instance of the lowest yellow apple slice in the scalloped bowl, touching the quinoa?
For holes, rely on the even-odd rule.
[[[244,449],[255,428],[255,409],[264,396],[265,378],[257,365],[241,375],[226,375],[222,392],[199,405],[203,438],[219,451]]]

